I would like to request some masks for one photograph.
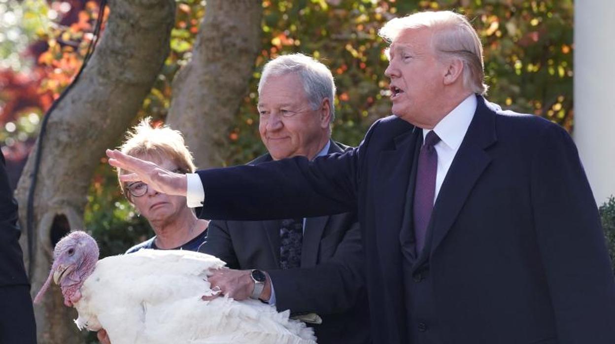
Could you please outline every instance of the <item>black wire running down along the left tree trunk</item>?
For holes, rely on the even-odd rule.
[[[56,106],[62,102],[62,99],[68,94],[69,90],[71,90],[76,84],[77,80],[79,80],[79,76],[81,76],[82,71],[84,71],[87,62],[89,62],[90,57],[94,53],[94,49],[96,44],[98,43],[98,38],[100,36],[100,27],[103,23],[103,15],[105,14],[105,7],[107,5],[107,0],[101,0],[100,6],[98,8],[98,17],[96,18],[96,26],[93,31],[93,39],[90,41],[90,44],[87,47],[87,51],[85,52],[85,56],[83,58],[83,63],[81,64],[81,68],[77,72],[77,75],[74,77],[73,81],[66,86],[66,89],[62,91],[60,97],[55,100],[55,102],[49,107],[49,110],[44,115],[44,118],[41,122],[41,132],[38,137],[38,148],[36,149],[36,155],[34,156],[34,170],[32,172],[32,180],[30,182],[30,190],[28,190],[28,206],[27,206],[27,215],[26,215],[26,232],[28,233],[28,278],[32,281],[32,276],[34,273],[34,191],[36,190],[36,177],[38,176],[38,171],[41,167],[41,156],[42,156],[42,142],[45,137],[45,133],[47,131],[47,122],[49,121],[49,117],[51,113],[55,110]]]

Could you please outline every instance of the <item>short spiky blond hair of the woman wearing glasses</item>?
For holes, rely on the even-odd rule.
[[[144,118],[126,133],[124,143],[119,150],[135,158],[150,158],[159,161],[170,159],[184,173],[192,173],[196,170],[192,153],[188,150],[181,132],[169,126],[152,126],[149,117]],[[124,183],[119,181],[119,176],[122,174],[125,172],[118,168],[117,181],[122,193],[126,194]]]

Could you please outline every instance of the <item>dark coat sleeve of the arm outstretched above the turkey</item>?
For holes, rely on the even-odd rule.
[[[197,171],[205,191],[199,217],[275,220],[355,212],[367,146],[378,124],[359,147],[344,153]]]

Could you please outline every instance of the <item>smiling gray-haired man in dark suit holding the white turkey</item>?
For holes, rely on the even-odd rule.
[[[302,54],[274,58],[263,68],[258,95],[259,131],[268,154],[248,164],[293,156],[314,159],[349,149],[330,138],[335,83],[322,63]],[[208,231],[200,252],[221,258],[232,269],[209,278],[221,294],[290,310],[314,327],[319,343],[370,342],[355,212],[213,221]]]

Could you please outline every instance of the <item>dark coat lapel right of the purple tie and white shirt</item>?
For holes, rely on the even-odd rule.
[[[491,157],[485,150],[497,140],[496,114],[488,108],[483,97],[477,98],[474,119],[446,173],[435,202],[430,224],[431,254],[448,234],[475,183],[491,162]]]

